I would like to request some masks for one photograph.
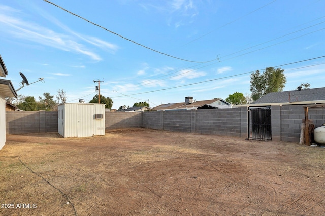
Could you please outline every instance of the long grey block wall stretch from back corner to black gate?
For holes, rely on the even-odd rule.
[[[143,127],[247,138],[247,108],[144,112]]]

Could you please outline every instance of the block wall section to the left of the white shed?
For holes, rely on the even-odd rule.
[[[6,111],[6,133],[57,131],[56,111]]]

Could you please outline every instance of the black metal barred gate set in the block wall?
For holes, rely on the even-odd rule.
[[[249,107],[248,139],[272,140],[271,107]]]

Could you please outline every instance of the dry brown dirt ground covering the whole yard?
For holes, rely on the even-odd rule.
[[[7,135],[0,215],[325,215],[325,148],[149,129]]]

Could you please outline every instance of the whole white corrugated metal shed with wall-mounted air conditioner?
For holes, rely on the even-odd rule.
[[[60,104],[57,118],[58,133],[63,137],[105,135],[105,104]]]

